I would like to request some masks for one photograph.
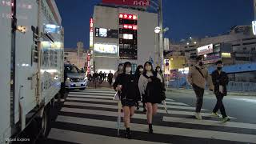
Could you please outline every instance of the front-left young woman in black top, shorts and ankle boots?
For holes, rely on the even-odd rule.
[[[114,90],[119,91],[124,112],[124,125],[126,127],[126,138],[131,138],[130,118],[134,115],[136,102],[140,101],[138,83],[135,81],[134,74],[131,73],[131,63],[126,62],[122,74],[118,74],[114,84]]]

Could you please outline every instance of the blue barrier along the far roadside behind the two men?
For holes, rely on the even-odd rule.
[[[192,87],[186,78],[176,78],[175,80],[166,82],[166,87],[171,89],[191,89]],[[256,83],[253,82],[229,82],[227,90],[230,92],[256,92]]]

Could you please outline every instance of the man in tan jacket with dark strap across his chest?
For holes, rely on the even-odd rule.
[[[202,57],[198,56],[196,58],[196,65],[190,67],[190,72],[187,76],[187,81],[193,86],[194,92],[197,97],[196,102],[196,110],[195,110],[195,118],[198,120],[202,120],[202,116],[200,114],[202,109],[203,102],[203,94],[206,89],[206,82],[209,83],[209,74],[208,70],[203,66]]]

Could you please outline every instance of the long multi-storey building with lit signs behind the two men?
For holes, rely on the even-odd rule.
[[[222,60],[225,65],[235,65],[256,62],[255,48],[256,37],[251,26],[234,26],[228,34],[206,38],[188,38],[176,44],[170,43],[170,50],[166,50],[165,55],[169,60],[174,56],[185,56],[184,67],[193,66],[194,58],[198,55],[204,56],[206,66],[214,66],[218,60]],[[178,62],[178,60],[173,58],[173,61],[169,62]],[[179,69],[182,68],[182,66],[179,67]],[[230,75],[230,78],[234,81],[255,82],[255,75],[255,72],[247,72],[246,74]]]

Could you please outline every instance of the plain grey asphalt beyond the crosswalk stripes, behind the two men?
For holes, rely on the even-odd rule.
[[[208,94],[207,94],[208,93]],[[214,94],[206,92],[203,99],[202,108],[213,110],[217,102]],[[190,106],[195,106],[195,94],[183,93],[182,90],[174,90],[166,93],[167,98],[172,98],[177,102],[184,102]],[[226,114],[237,118],[237,122],[256,123],[256,96],[226,96],[223,99]],[[220,111],[218,111],[220,114]]]

